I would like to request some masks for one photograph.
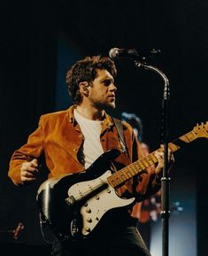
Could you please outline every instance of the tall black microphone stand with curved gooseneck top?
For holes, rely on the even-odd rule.
[[[144,60],[144,58],[143,58]],[[143,61],[135,60],[135,66],[141,67],[145,70],[150,70],[157,73],[160,77],[162,77],[164,81],[164,96],[162,101],[162,120],[161,120],[161,136],[164,145],[164,168],[163,175],[161,178],[162,185],[162,195],[161,195],[161,218],[162,218],[162,255],[168,256],[168,244],[169,244],[169,217],[170,217],[170,177],[168,176],[168,111],[169,111],[169,100],[170,100],[170,88],[169,81],[161,70],[158,67],[150,66],[144,63]]]

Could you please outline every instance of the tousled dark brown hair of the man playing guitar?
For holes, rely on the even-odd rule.
[[[88,81],[91,83],[96,78],[97,69],[106,69],[113,77],[116,76],[117,70],[111,58],[93,56],[86,57],[77,61],[66,73],[66,85],[68,92],[75,104],[81,103],[81,93],[79,83]]]

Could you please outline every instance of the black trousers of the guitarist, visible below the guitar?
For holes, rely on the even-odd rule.
[[[94,237],[81,242],[56,242],[53,256],[150,256],[135,225],[96,232]]]

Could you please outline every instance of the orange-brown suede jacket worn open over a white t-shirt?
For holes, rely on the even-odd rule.
[[[52,112],[42,115],[39,126],[27,140],[27,144],[14,151],[10,162],[9,176],[16,185],[20,185],[20,167],[23,162],[39,159],[44,153],[50,177],[78,173],[84,170],[79,161],[79,150],[83,144],[83,136],[79,124],[74,119],[71,106],[68,110]],[[121,153],[113,160],[116,166],[124,167],[142,157],[140,144],[135,138],[133,128],[123,124],[127,153]],[[119,144],[119,135],[112,118],[105,113],[100,141],[104,151],[111,149],[122,150]],[[154,169],[150,169],[139,179],[131,179],[119,189],[119,194],[137,195],[139,200],[150,197],[159,190],[160,184]]]

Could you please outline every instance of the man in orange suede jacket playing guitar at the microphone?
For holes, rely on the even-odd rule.
[[[42,154],[49,177],[83,172],[102,153],[112,149],[120,152],[112,159],[114,172],[143,157],[133,128],[127,123],[123,124],[127,149],[123,151],[115,122],[106,113],[108,108],[115,108],[116,73],[112,59],[99,56],[82,59],[72,66],[66,74],[66,84],[74,105],[65,111],[42,115],[27,144],[13,153],[9,176],[15,184],[35,181]],[[143,200],[160,189],[163,152],[156,151],[155,157],[158,166],[125,182],[117,190],[119,196]],[[105,213],[92,236],[73,243],[58,241],[52,255],[150,255],[130,213],[130,206]]]

